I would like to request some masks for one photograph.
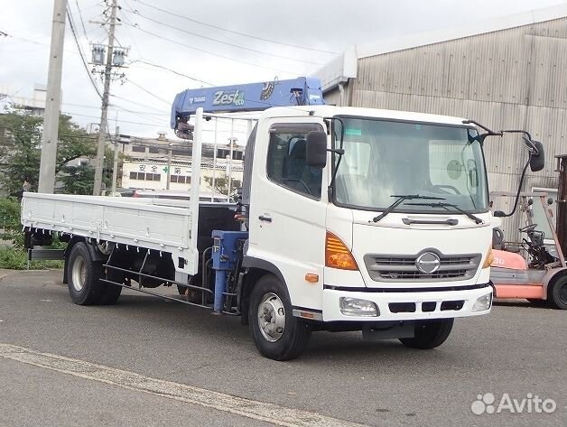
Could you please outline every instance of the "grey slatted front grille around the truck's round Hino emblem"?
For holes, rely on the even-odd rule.
[[[417,258],[423,252],[439,256],[439,269],[432,274],[418,270]],[[474,276],[481,259],[480,254],[442,255],[432,250],[417,255],[365,255],[370,278],[376,282],[442,282],[445,280],[467,280]]]

